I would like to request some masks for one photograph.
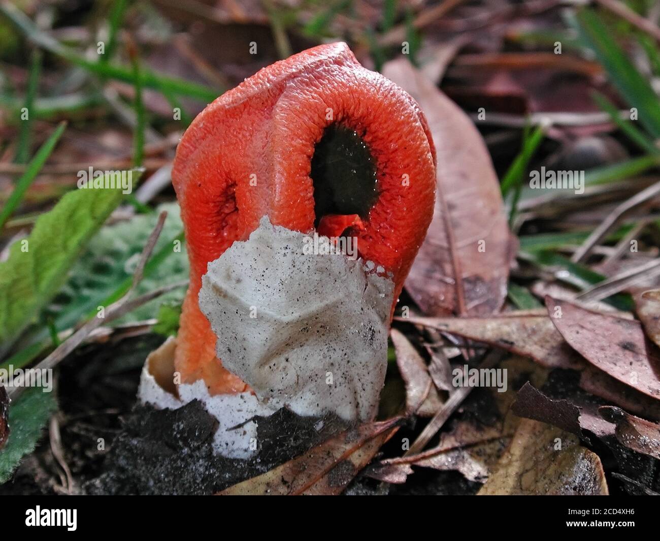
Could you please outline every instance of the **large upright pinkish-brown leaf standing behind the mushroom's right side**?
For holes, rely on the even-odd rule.
[[[424,111],[438,155],[436,209],[406,288],[428,315],[498,312],[515,248],[488,149],[468,116],[407,59],[387,62],[383,75]]]

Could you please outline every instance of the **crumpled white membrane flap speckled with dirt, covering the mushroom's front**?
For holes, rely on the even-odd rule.
[[[305,238],[265,217],[249,240],[209,263],[199,307],[216,353],[271,408],[372,419],[387,368],[393,281],[372,263],[310,254]]]

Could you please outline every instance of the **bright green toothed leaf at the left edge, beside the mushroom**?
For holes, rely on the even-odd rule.
[[[0,263],[0,343],[9,345],[51,301],[84,244],[119,205],[116,189],[65,194]]]

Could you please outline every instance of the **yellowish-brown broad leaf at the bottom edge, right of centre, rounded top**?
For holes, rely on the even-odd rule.
[[[557,449],[558,445],[561,449]],[[607,495],[603,465],[578,439],[523,419],[478,495]]]

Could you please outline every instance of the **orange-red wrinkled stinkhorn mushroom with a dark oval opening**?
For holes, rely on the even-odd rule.
[[[360,258],[391,275],[396,303],[432,218],[434,160],[413,98],[343,43],[279,61],[210,104],[172,172],[191,267],[175,357],[182,383],[203,379],[212,395],[248,390],[216,358],[198,295],[209,263],[263,217],[355,236]]]

